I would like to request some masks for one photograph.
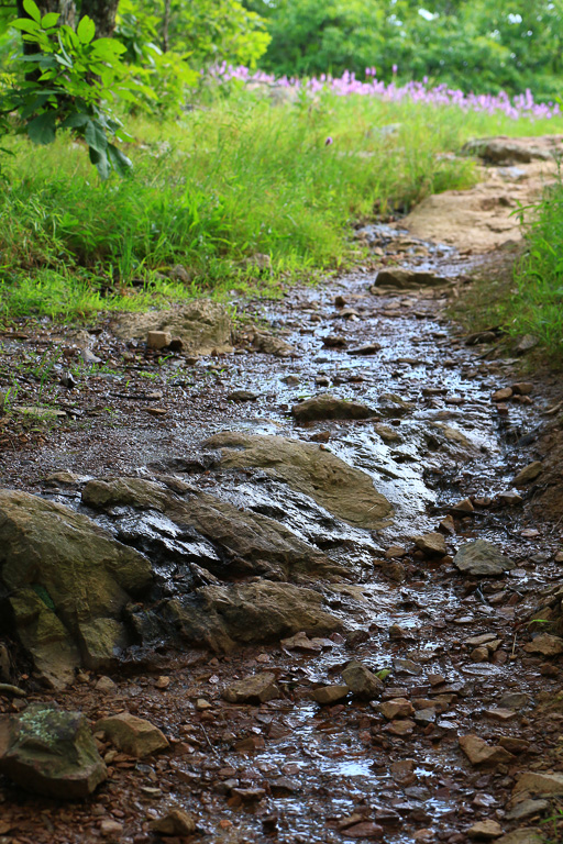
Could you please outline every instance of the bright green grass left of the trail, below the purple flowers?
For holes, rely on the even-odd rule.
[[[467,137],[543,123],[362,97],[272,107],[243,92],[174,123],[133,122],[134,175],[107,184],[69,137],[14,141],[0,184],[0,319],[272,293],[357,259],[354,221],[470,187],[472,162],[443,155]],[[252,267],[256,254],[271,270]],[[175,265],[189,280],[169,275]]]

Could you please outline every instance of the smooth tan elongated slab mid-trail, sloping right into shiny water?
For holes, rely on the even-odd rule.
[[[393,515],[391,504],[368,475],[312,443],[224,432],[203,445],[221,449],[221,467],[262,468],[350,524],[376,529]]]

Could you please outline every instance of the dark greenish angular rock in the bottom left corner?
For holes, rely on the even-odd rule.
[[[86,718],[45,703],[0,720],[0,773],[64,800],[88,797],[108,776]]]

